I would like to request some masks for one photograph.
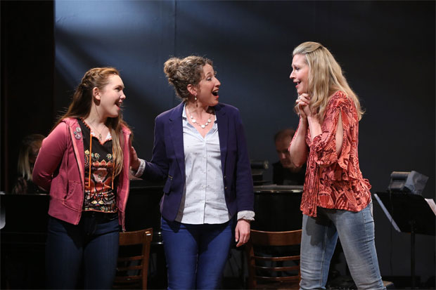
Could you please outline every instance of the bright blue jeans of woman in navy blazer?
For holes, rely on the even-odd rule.
[[[218,289],[233,241],[233,220],[189,225],[162,218],[168,289]]]

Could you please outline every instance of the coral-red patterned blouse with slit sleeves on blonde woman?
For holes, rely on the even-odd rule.
[[[340,156],[336,154],[335,145],[339,114],[343,128]],[[357,110],[344,92],[331,95],[321,129],[322,133],[311,141],[307,128],[309,157],[300,209],[307,216],[316,216],[317,206],[361,211],[371,202],[371,185],[359,169]]]

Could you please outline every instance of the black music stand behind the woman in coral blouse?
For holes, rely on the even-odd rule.
[[[415,234],[435,235],[436,213],[430,207],[432,199],[404,192],[377,192],[377,202],[398,232],[411,234],[411,288],[415,287]]]

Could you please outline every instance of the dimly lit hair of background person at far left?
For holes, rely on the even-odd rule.
[[[33,154],[33,149],[41,148],[42,140],[45,136],[41,134],[31,134],[23,138],[18,154],[17,171],[25,180],[32,181],[33,164],[30,164],[30,155]],[[34,156],[36,159],[36,156]]]

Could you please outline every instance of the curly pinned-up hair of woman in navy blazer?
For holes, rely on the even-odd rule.
[[[186,58],[169,58],[164,63],[164,72],[168,83],[174,86],[174,91],[182,100],[187,100],[190,93],[188,85],[198,86],[203,78],[203,67],[212,65],[212,60],[191,55]]]

